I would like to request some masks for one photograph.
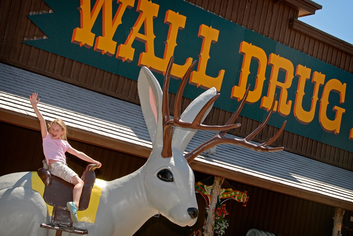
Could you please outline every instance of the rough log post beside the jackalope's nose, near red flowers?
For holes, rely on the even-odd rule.
[[[213,236],[213,225],[215,223],[215,208],[217,203],[217,197],[221,193],[221,185],[224,181],[223,177],[215,176],[215,180],[213,182],[213,188],[211,192],[211,202],[207,209],[207,221],[206,225],[203,226],[204,236]]]

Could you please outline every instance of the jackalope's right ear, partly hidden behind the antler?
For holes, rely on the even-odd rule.
[[[204,93],[202,93],[197,98],[195,98],[195,100],[192,101],[189,104],[189,106],[185,109],[183,114],[181,114],[180,116],[181,120],[185,122],[192,122],[193,120],[195,120],[195,117],[197,116],[199,111],[216,94],[217,94],[217,90],[213,87],[205,91]],[[202,118],[202,121],[206,118],[212,106],[213,105],[211,105],[210,108],[206,111],[204,117]],[[187,144],[189,144],[190,140],[192,139],[196,131],[197,131],[196,129],[175,127],[173,140],[172,140],[172,148],[177,149],[178,151],[183,153]]]

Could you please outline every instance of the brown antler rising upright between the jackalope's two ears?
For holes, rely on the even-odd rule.
[[[213,96],[200,110],[193,122],[184,122],[180,119],[180,103],[181,97],[183,96],[183,91],[187,82],[187,79],[190,76],[192,68],[195,66],[196,61],[194,61],[191,66],[187,69],[183,79],[178,88],[177,97],[174,105],[174,119],[170,119],[169,116],[169,105],[168,105],[168,89],[170,81],[170,71],[172,70],[172,65],[174,62],[174,57],[172,56],[169,60],[166,75],[164,77],[163,84],[163,97],[162,97],[162,114],[163,114],[163,149],[162,157],[168,158],[172,156],[172,134],[173,127],[182,127],[189,129],[202,129],[202,130],[228,130],[232,128],[237,128],[240,124],[227,124],[225,126],[207,126],[202,125],[202,118],[204,117],[207,110],[213,105],[213,102],[216,100],[220,94]]]

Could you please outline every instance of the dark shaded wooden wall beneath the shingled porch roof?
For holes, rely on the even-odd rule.
[[[0,122],[0,135],[4,140],[0,146],[2,150],[0,176],[20,171],[35,171],[42,167],[41,161],[44,159],[44,155],[40,132]],[[68,141],[75,149],[83,151],[102,163],[102,167],[96,171],[96,174],[97,178],[103,180],[110,181],[130,174],[146,162],[145,158],[79,141]],[[79,175],[82,175],[87,164],[70,154],[67,155],[67,163]],[[195,173],[196,181],[202,181],[208,177],[209,175],[206,174]],[[245,235],[251,228],[286,236],[331,235],[334,207],[248,184],[230,180],[228,182],[234,189],[248,191],[250,199],[246,207],[234,200],[225,202],[230,213],[227,217],[230,224],[226,236]],[[194,226],[184,228],[170,222],[163,216],[160,218],[151,217],[135,235],[180,236],[189,235],[191,228],[202,228],[206,201],[201,194],[196,194],[196,198],[199,217]]]

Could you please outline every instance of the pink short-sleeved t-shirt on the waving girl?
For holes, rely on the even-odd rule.
[[[45,159],[49,165],[49,160],[60,161],[66,164],[65,152],[69,149],[70,144],[62,139],[52,139],[50,134],[43,138],[43,151]]]

